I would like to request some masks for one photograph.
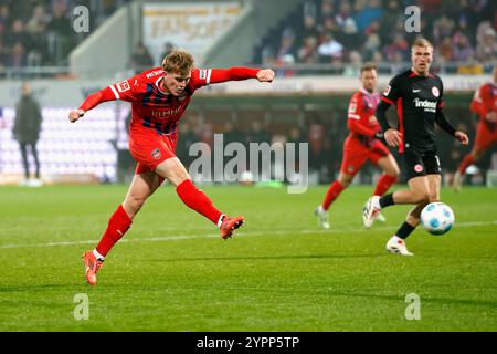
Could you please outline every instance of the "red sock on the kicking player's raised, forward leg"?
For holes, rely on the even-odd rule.
[[[211,199],[198,189],[190,179],[187,179],[178,185],[176,192],[187,207],[203,215],[205,218],[218,225],[221,211],[215,209]]]

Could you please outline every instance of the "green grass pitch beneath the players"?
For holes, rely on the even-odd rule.
[[[442,237],[416,229],[406,258],[384,244],[409,206],[362,228],[372,188],[343,191],[330,208],[331,230],[321,230],[313,210],[326,187],[302,195],[205,187],[221,210],[246,218],[223,241],[163,187],[108,254],[98,284],[87,285],[81,256],[126,189],[0,188],[1,331],[497,330],[495,188],[443,189],[454,229]],[[419,320],[405,316],[410,294]],[[87,296],[86,320],[78,296]]]

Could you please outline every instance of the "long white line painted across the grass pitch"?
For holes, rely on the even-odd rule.
[[[468,222],[459,222],[457,223],[457,228],[467,228],[474,226],[488,226],[488,225],[497,225],[497,220],[494,221],[468,221]],[[392,230],[396,227],[376,227],[374,230]],[[309,235],[309,233],[343,233],[343,232],[361,232],[366,231],[364,228],[340,228],[340,229],[331,229],[331,230],[299,230],[294,231],[292,229],[287,230],[265,230],[265,231],[255,231],[255,232],[246,232],[240,233],[236,237],[257,237],[257,236],[284,236],[287,233],[297,233],[297,235]],[[243,230],[242,230],[243,232]],[[126,242],[161,242],[161,241],[178,241],[178,240],[191,240],[191,239],[202,239],[202,238],[219,238],[219,233],[202,233],[202,235],[172,235],[172,236],[163,236],[163,237],[146,237],[146,238],[137,238],[137,239],[121,239],[119,243]],[[75,244],[88,244],[88,243],[97,243],[99,240],[81,240],[81,241],[61,241],[61,242],[46,242],[46,243],[24,243],[24,244],[0,244],[0,249],[12,249],[12,248],[36,248],[36,247],[56,247],[56,246],[75,246]]]

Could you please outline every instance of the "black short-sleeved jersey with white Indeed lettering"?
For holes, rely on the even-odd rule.
[[[399,132],[404,148],[417,152],[436,150],[436,111],[442,107],[444,87],[442,80],[434,75],[421,76],[408,70],[390,81],[381,100],[396,105]]]

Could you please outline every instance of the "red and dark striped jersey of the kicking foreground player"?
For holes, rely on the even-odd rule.
[[[147,128],[146,132],[156,132],[175,139],[178,123],[198,88],[211,83],[253,79],[257,72],[258,69],[250,67],[193,69],[182,94],[175,96],[161,91],[163,71],[154,67],[89,95],[80,108],[88,111],[102,102],[127,101],[131,103],[131,133]]]

